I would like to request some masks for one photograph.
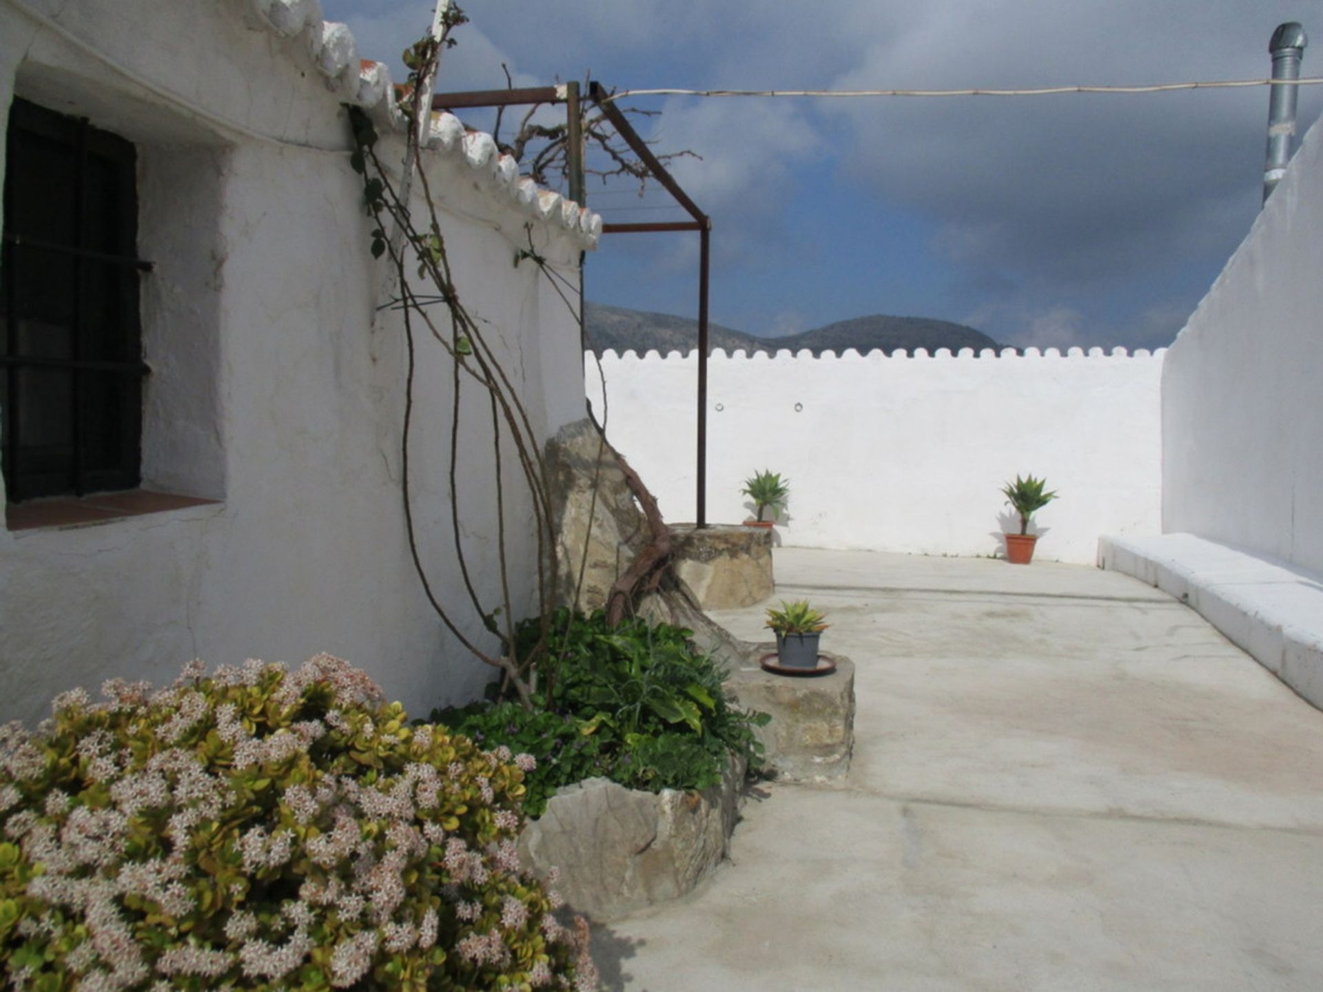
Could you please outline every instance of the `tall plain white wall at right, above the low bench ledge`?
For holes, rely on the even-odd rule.
[[[1323,571],[1323,127],[1163,373],[1163,526]]]

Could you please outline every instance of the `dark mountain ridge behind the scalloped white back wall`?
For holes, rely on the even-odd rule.
[[[585,307],[585,331],[589,348],[597,354],[614,351],[622,354],[632,351],[646,354],[656,351],[665,354],[672,351],[688,353],[699,341],[699,321],[679,317],[673,313],[611,307],[605,303],[587,303]],[[934,317],[898,317],[888,313],[871,313],[848,320],[836,320],[811,331],[800,331],[783,337],[759,337],[745,331],[722,324],[708,325],[708,347],[721,348],[730,354],[742,349],[746,353],[766,352],[775,354],[783,348],[792,352],[808,349],[815,356],[826,351],[840,354],[851,348],[860,354],[881,351],[890,354],[905,349],[913,353],[925,348],[929,353],[938,348],[1000,349],[996,341],[980,331],[950,320]]]

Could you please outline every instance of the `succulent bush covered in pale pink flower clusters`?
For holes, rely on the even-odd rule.
[[[0,947],[17,988],[595,988],[520,870],[534,762],[321,655],[58,697],[0,729]]]

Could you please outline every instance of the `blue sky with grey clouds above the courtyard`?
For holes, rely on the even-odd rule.
[[[398,66],[430,0],[323,0]],[[1262,78],[1278,0],[471,0],[439,89],[593,78],[620,89],[1029,87]],[[402,69],[398,70],[402,73]],[[1168,344],[1259,208],[1267,91],[951,99],[640,98],[639,123],[713,218],[712,319],[759,335],[864,313],[1005,344]],[[1301,134],[1323,108],[1302,87]],[[490,127],[474,115],[468,123]],[[681,218],[590,186],[607,220]],[[590,299],[692,316],[697,235],[610,235]]]

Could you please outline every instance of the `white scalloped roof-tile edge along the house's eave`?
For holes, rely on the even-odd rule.
[[[320,0],[239,0],[258,22],[282,38],[306,33],[312,63],[347,103],[363,107],[378,127],[404,132],[405,116],[396,102],[390,69],[359,58],[359,45],[344,24],[321,19]],[[602,234],[599,214],[519,175],[519,164],[501,155],[491,135],[466,131],[454,114],[433,116],[427,148],[462,160],[480,177],[487,192],[504,198],[528,217],[564,229],[582,247],[595,247]]]

